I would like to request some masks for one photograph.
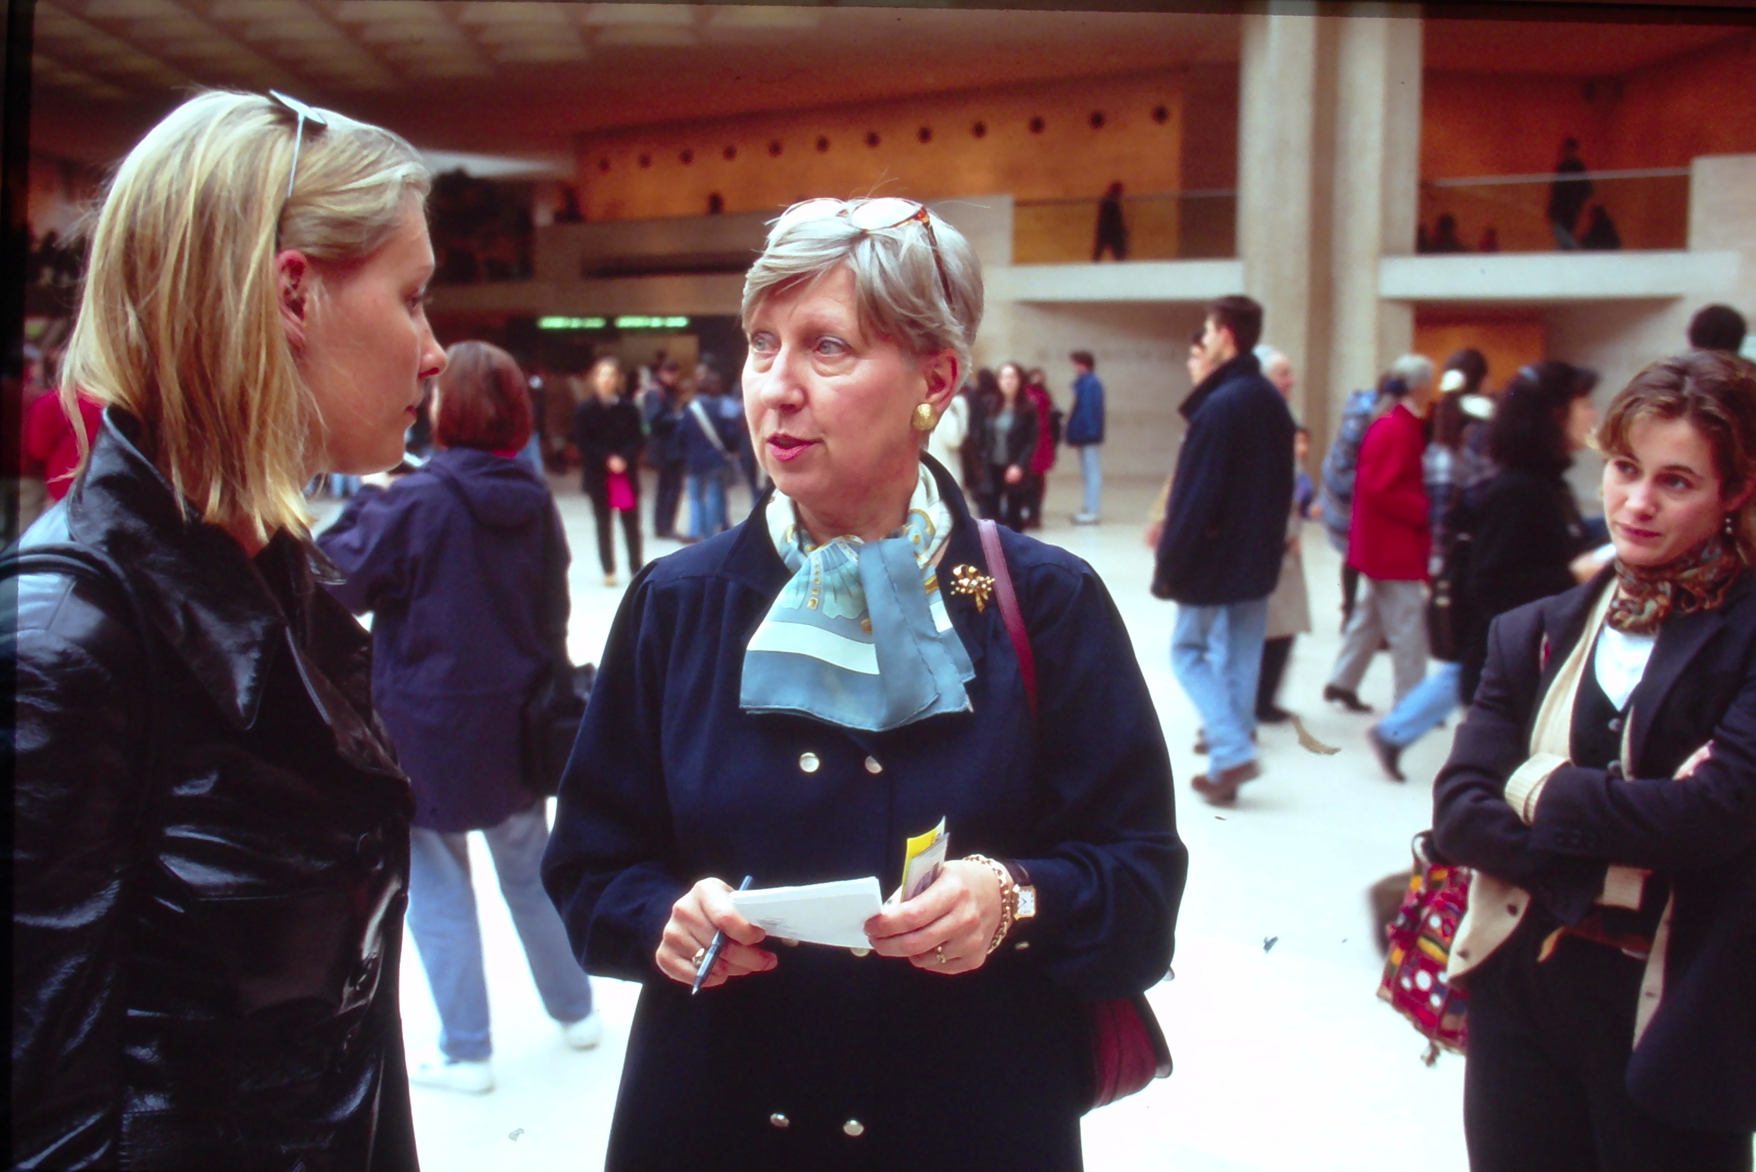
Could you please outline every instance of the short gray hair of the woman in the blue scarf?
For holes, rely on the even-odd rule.
[[[745,277],[745,330],[767,297],[797,282],[822,281],[845,265],[853,274],[862,325],[894,337],[911,354],[954,351],[962,377],[982,325],[982,261],[964,233],[938,216],[932,239],[945,267],[943,282],[920,221],[874,230],[855,228],[846,216],[776,223]]]

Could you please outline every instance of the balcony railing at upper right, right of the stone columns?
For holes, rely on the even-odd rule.
[[[1572,209],[1579,214],[1563,239],[1551,214],[1565,216]],[[1688,247],[1689,168],[1475,175],[1421,184],[1415,251],[1552,253],[1570,246]]]

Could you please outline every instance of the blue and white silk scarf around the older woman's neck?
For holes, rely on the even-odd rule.
[[[976,672],[934,567],[952,511],[925,465],[903,528],[880,542],[836,537],[813,547],[780,490],[767,526],[792,579],[745,649],[743,711],[799,712],[864,732],[969,711],[964,681]]]

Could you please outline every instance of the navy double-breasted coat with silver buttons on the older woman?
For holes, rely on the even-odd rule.
[[[983,568],[955,528],[939,563]],[[646,984],[609,1168],[1076,1168],[1087,1002],[1164,977],[1187,854],[1157,714],[1078,558],[1001,533],[1040,674],[1033,721],[999,609],[946,597],[971,711],[862,733],[738,707],[787,581],[759,509],[629,588],[560,784],[544,884],[585,967]],[[690,997],[653,954],[706,875],[901,877],[948,819],[954,856],[1022,861],[1038,916],[973,974],[778,942],[778,967]]]

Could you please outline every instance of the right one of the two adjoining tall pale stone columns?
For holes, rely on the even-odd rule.
[[[1373,16],[1375,7],[1359,5],[1336,21],[1329,426],[1349,391],[1371,386],[1414,346],[1414,305],[1378,298],[1378,258],[1414,251],[1421,21]]]

